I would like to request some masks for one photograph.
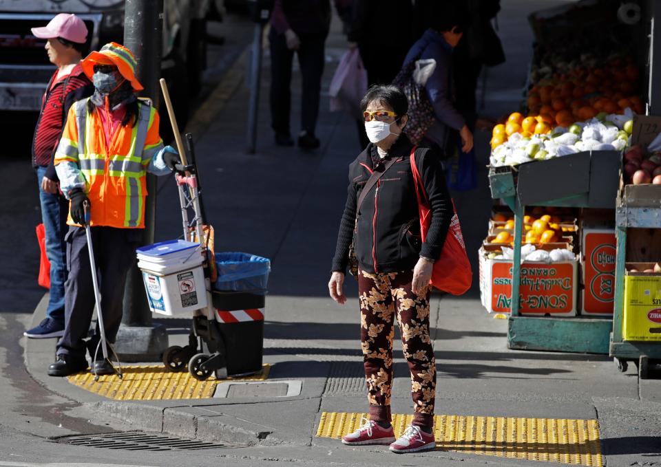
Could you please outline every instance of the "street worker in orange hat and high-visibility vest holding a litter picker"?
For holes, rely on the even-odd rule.
[[[100,332],[85,343],[94,312],[94,286],[83,224],[90,225],[101,292],[105,335],[110,344],[122,319],[126,274],[135,264],[136,247],[145,228],[147,172],[165,175],[179,155],[163,146],[158,112],[136,98],[143,89],[134,75],[136,59],[123,45],[109,43],[82,62],[94,94],[76,102],[67,116],[55,153],[61,190],[70,200],[67,221],[69,278],[65,284],[65,332],[57,343],[50,376],[87,369],[90,351],[95,374],[114,371],[99,351]],[[85,220],[85,211],[91,215]]]

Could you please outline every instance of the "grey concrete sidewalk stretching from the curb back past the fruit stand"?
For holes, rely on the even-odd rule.
[[[531,3],[534,5],[527,7],[530,10],[549,4]],[[526,11],[504,6],[503,13],[499,21],[505,50],[507,43],[529,43],[529,32],[521,27]],[[334,23],[327,43],[324,92],[344,49],[337,26]],[[516,80],[521,78],[523,82],[527,67],[520,56],[515,55],[516,62],[508,61],[512,72],[490,84],[499,89],[496,100],[502,100],[503,93],[516,94],[514,89],[520,85]],[[344,307],[333,303],[326,290],[346,196],[346,171],[359,150],[355,123],[342,114],[326,111],[328,98],[324,95],[317,129],[322,148],[305,152],[275,146],[269,131],[266,53],[258,153],[247,155],[248,91],[243,83],[243,67],[244,63],[238,61],[217,92],[212,93],[220,104],[208,102],[203,115],[198,114],[191,123],[200,131],[194,136],[204,202],[216,230],[216,251],[245,251],[272,260],[264,329],[264,362],[271,364],[267,381],[300,381],[300,394],[278,396],[280,391],[274,386],[272,392],[268,388],[262,392],[262,387],[255,396],[231,393],[227,398],[120,402],[85,391],[65,379],[49,378],[46,369],[53,360],[54,340],[27,340],[25,364],[50,391],[113,415],[136,429],[251,446],[238,449],[236,455],[255,459],[284,455],[315,465],[401,465],[404,459],[390,455],[382,446],[347,448],[335,439],[315,437],[322,412],[367,409],[361,376],[357,287],[348,277],[346,292],[350,299]],[[292,130],[296,134],[300,79],[296,72],[294,75]],[[487,94],[487,109],[489,99]],[[476,135],[483,160],[487,157],[487,140],[488,135]],[[485,169],[481,169],[479,180],[477,190],[454,193],[473,261],[485,235],[491,205]],[[180,217],[174,181],[170,177],[160,180],[158,190],[156,239],[176,238],[180,235]],[[476,274],[476,265],[474,271]],[[507,349],[507,321],[484,312],[476,283],[475,279],[465,296],[432,298],[432,338],[439,371],[437,414],[598,420],[602,453],[609,466],[661,465],[658,380],[638,380],[633,366],[628,373],[618,373],[605,356]],[[45,303],[44,298],[36,308],[34,323],[43,317]],[[189,320],[155,319],[169,328],[170,345],[185,343],[187,335],[181,328],[189,326]],[[393,413],[411,412],[409,393],[410,377],[401,345],[397,345]],[[548,454],[557,446],[540,444],[535,448]],[[379,457],[375,457],[377,454]],[[463,465],[533,464],[476,455],[470,448],[406,457],[411,465],[428,465],[431,459],[437,465],[458,461]],[[544,465],[549,464],[554,465]]]

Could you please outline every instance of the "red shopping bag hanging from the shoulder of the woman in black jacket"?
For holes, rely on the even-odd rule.
[[[429,206],[429,198],[427,197],[425,187],[422,184],[422,177],[415,164],[415,149],[414,147],[411,151],[411,171],[413,173],[413,182],[415,183],[415,195],[418,198],[420,232],[422,241],[425,241],[432,220],[432,211]],[[470,261],[468,261],[468,255],[466,254],[465,243],[463,243],[459,216],[457,216],[457,210],[454,209],[454,201],[452,202],[452,209],[454,210],[454,215],[452,216],[452,221],[450,221],[448,236],[445,237],[441,256],[434,263],[432,280],[430,282],[437,289],[444,290],[452,295],[461,295],[470,289],[473,272],[470,267]]]

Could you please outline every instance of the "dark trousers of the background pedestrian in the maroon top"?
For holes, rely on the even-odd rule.
[[[319,116],[319,92],[324,73],[324,44],[327,32],[302,34],[296,51],[303,78],[301,129],[315,133]],[[284,34],[269,34],[271,42],[271,127],[276,133],[290,134],[291,66],[294,51],[287,48]]]

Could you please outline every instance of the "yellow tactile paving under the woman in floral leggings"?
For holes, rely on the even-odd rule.
[[[361,424],[366,413],[323,412],[318,437],[339,439]],[[412,415],[392,415],[395,436],[410,425]],[[436,415],[437,449],[511,459],[552,461],[602,467],[597,420],[474,417]]]

